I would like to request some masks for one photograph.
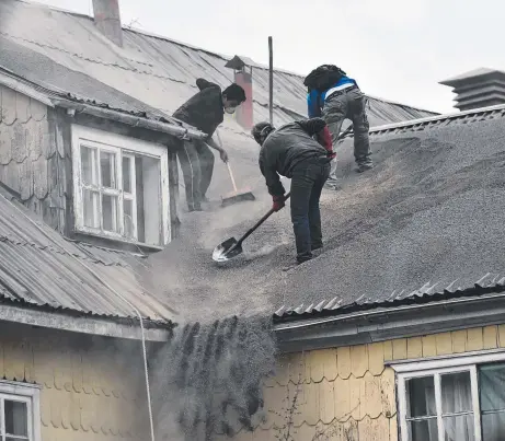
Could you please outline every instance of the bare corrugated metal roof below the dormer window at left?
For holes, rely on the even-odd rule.
[[[145,318],[174,318],[175,312],[142,287],[135,267],[120,252],[69,242],[14,204],[0,196],[0,297],[83,314],[136,318],[116,291]]]

